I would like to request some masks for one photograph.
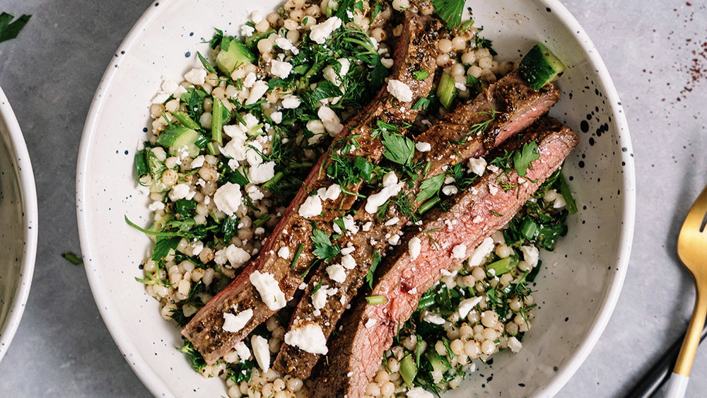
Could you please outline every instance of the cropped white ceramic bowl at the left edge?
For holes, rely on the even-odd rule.
[[[37,193],[30,155],[0,89],[0,359],[30,293],[37,252]]]

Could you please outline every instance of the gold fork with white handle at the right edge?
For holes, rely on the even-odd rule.
[[[697,297],[692,319],[685,332],[680,353],[670,375],[665,397],[682,398],[685,395],[690,370],[695,359],[700,333],[707,316],[707,187],[692,205],[677,238],[677,255],[695,281]]]

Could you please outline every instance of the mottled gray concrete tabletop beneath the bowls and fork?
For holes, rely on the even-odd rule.
[[[74,174],[100,76],[149,0],[3,0],[33,14],[0,44],[0,86],[33,160],[40,246],[22,323],[0,363],[4,397],[148,397],[95,308],[80,252]],[[604,57],[624,103],[638,180],[631,267],[596,348],[559,394],[622,397],[682,333],[694,291],[675,254],[691,201],[707,183],[707,9],[703,1],[567,0]],[[689,397],[707,391],[707,348]]]

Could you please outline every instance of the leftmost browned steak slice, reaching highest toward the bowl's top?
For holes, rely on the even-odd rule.
[[[320,223],[321,228],[330,234],[332,219],[354,203],[356,197],[341,194],[344,187],[336,185],[334,179],[327,175],[326,170],[334,161],[332,154],[341,149],[344,141],[356,136],[358,147],[340,156],[361,156],[371,163],[378,163],[383,146],[380,140],[372,138],[375,122],[382,119],[390,124],[402,125],[414,121],[419,110],[412,110],[412,105],[419,98],[426,97],[432,88],[437,66],[435,43],[442,27],[433,18],[409,12],[404,15],[403,26],[390,79],[409,87],[410,100],[404,98],[406,101],[403,102],[392,95],[387,85],[382,87],[371,103],[344,126],[334,144],[312,168],[303,187],[264,243],[259,256],[182,329],[182,334],[192,341],[206,363],[215,363],[258,324],[291,300],[315,261],[311,240],[312,221]],[[428,71],[428,77],[416,80],[412,72],[418,70]],[[356,194],[360,186],[361,181],[358,181],[345,188],[347,192]]]

